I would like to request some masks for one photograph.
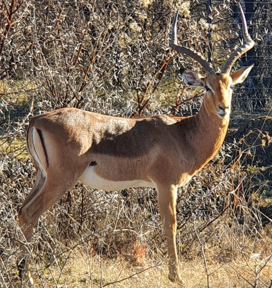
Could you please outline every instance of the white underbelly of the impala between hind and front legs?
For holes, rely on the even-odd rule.
[[[98,190],[122,190],[130,187],[152,187],[154,184],[150,181],[131,180],[131,181],[111,181],[99,177],[94,172],[94,167],[89,166],[79,178],[83,184],[96,188]]]

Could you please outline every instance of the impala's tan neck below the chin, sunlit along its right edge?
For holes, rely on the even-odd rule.
[[[196,126],[196,135],[193,139],[195,168],[199,171],[222,146],[228,130],[229,116],[220,119],[214,114],[209,114],[203,103],[199,113],[192,118],[195,118],[193,124]]]

